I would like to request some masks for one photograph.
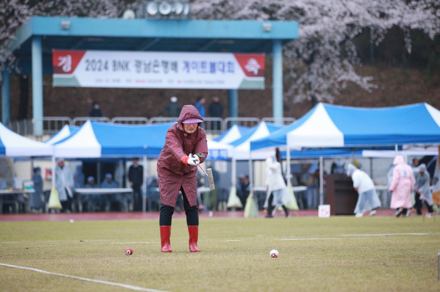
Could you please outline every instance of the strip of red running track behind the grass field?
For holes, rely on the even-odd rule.
[[[263,211],[259,212],[264,217]],[[291,211],[291,217],[296,216],[318,216],[318,210]],[[413,213],[412,213],[413,214]],[[366,214],[367,215],[367,214]],[[377,216],[394,216],[393,209],[377,209]],[[284,212],[277,211],[276,217],[283,217]],[[243,218],[243,211],[213,211],[199,213],[200,218]],[[185,218],[185,213],[175,212],[173,218]],[[0,222],[6,221],[69,221],[73,220],[120,220],[120,219],[159,219],[159,212],[93,212],[93,213],[20,213],[0,214]]]

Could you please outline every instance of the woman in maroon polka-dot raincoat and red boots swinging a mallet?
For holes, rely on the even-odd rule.
[[[197,168],[208,156],[206,132],[199,127],[203,118],[194,105],[184,105],[176,124],[165,136],[165,145],[157,160],[160,202],[160,242],[162,252],[170,246],[171,219],[179,191],[189,232],[189,249],[200,251],[198,241]]]

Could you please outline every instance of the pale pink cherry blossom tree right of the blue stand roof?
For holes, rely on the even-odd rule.
[[[299,38],[284,48],[290,84],[285,99],[332,102],[347,83],[371,90],[372,77],[355,72],[362,65],[353,39],[365,29],[379,44],[398,26],[411,52],[410,31],[431,39],[440,30],[439,0],[195,0],[192,13],[202,19],[298,21]]]

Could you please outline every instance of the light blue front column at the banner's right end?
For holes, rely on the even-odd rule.
[[[283,48],[280,40],[273,41],[273,76],[272,76],[273,117],[283,118]],[[280,121],[275,123],[281,124]]]

